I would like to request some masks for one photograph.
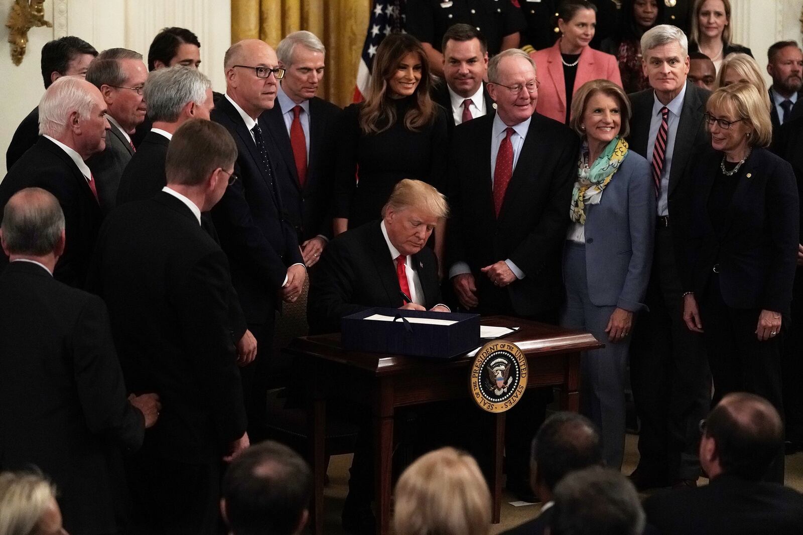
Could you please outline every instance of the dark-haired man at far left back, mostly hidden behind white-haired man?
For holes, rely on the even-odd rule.
[[[98,51],[91,44],[72,35],[49,41],[42,47],[42,78],[45,89],[62,76],[87,76],[89,63]],[[17,163],[39,139],[39,106],[19,124],[6,151],[6,170]]]

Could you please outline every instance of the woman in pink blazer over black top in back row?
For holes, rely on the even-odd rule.
[[[589,47],[597,26],[597,6],[585,0],[565,0],[558,7],[561,37],[552,47],[532,52],[540,80],[536,112],[568,124],[572,96],[589,80],[610,80],[622,87],[613,55]]]

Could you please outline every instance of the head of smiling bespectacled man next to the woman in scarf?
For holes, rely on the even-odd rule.
[[[536,62],[519,48],[501,51],[488,62],[488,94],[507,126],[523,123],[536,111],[539,84]]]

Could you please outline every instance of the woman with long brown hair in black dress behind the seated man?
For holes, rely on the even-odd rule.
[[[335,235],[379,219],[402,178],[443,190],[446,112],[430,98],[418,39],[391,34],[382,41],[365,102],[345,108],[337,133]]]

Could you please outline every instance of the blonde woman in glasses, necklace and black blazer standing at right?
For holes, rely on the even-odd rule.
[[[764,96],[751,84],[719,88],[705,118],[711,148],[692,161],[680,222],[683,319],[704,333],[715,402],[748,391],[783,414],[781,318],[789,314],[797,260],[795,175],[764,149],[772,125]]]

